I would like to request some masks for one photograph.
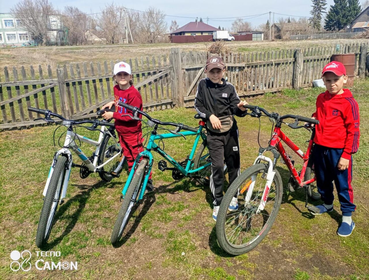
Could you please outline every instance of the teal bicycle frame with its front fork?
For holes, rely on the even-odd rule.
[[[151,132],[151,136],[149,138],[148,144],[146,146],[145,151],[139,153],[139,155],[137,156],[137,158],[135,159],[135,162],[132,166],[131,172],[128,175],[128,179],[127,182],[124,185],[124,188],[122,190],[122,194],[123,197],[125,196],[125,193],[128,190],[128,187],[130,186],[131,180],[133,178],[133,175],[135,173],[135,166],[137,166],[137,163],[140,161],[140,159],[142,157],[148,158],[149,159],[149,166],[148,168],[146,168],[146,174],[145,174],[145,178],[144,178],[144,182],[142,184],[142,188],[138,197],[138,200],[142,199],[142,197],[144,196],[145,193],[145,188],[146,188],[146,184],[147,181],[149,180],[149,175],[152,169],[152,165],[154,162],[154,158],[152,156],[151,150],[154,150],[155,152],[159,153],[159,155],[161,155],[163,158],[165,158],[166,160],[168,160],[176,169],[178,169],[184,176],[189,176],[190,174],[199,172],[200,170],[208,167],[211,165],[211,163],[206,163],[205,165],[197,168],[197,169],[192,169],[192,160],[194,157],[194,154],[196,152],[196,148],[197,148],[197,144],[199,143],[200,137],[204,140],[206,139],[206,135],[203,132],[205,123],[203,121],[199,121],[199,129],[197,132],[192,132],[192,131],[183,131],[183,132],[179,132],[177,134],[173,134],[173,133],[165,133],[165,134],[160,134],[158,135],[156,133],[156,128],[157,126],[155,126],[154,131]],[[156,145],[156,143],[154,142],[155,140],[160,140],[160,139],[167,139],[167,138],[175,138],[175,137],[181,137],[181,136],[191,136],[191,135],[196,135],[195,141],[193,143],[192,146],[192,150],[191,153],[187,159],[187,163],[186,163],[186,167],[183,168],[175,159],[173,159],[170,155],[168,155],[168,153],[166,153],[165,151],[163,151],[158,145]]]

